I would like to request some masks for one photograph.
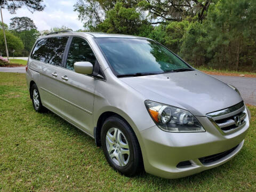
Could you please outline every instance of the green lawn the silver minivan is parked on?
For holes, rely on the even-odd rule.
[[[256,107],[245,145],[226,164],[187,178],[113,171],[94,140],[36,113],[25,74],[0,73],[0,191],[256,191]]]

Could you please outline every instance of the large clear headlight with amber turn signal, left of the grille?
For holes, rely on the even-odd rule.
[[[154,101],[145,101],[148,113],[156,125],[168,132],[205,132],[196,117],[185,109],[164,105]]]

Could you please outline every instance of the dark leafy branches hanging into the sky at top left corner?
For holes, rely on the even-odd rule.
[[[25,5],[30,12],[43,11],[45,5],[43,5],[43,0],[1,0],[0,6],[4,9],[8,9],[10,13],[15,13],[16,10]]]

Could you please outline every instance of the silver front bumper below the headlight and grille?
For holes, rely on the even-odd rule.
[[[196,118],[206,132],[170,133],[160,130],[157,126],[141,132],[146,172],[167,179],[186,177],[226,163],[242,149],[249,128],[248,115],[245,126],[229,135],[221,134],[207,117]],[[199,160],[231,148],[235,149],[210,163],[202,163]],[[184,161],[191,164],[177,167]]]

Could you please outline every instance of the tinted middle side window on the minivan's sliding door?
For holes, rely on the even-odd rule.
[[[50,39],[47,63],[60,66],[68,37],[53,37]]]

